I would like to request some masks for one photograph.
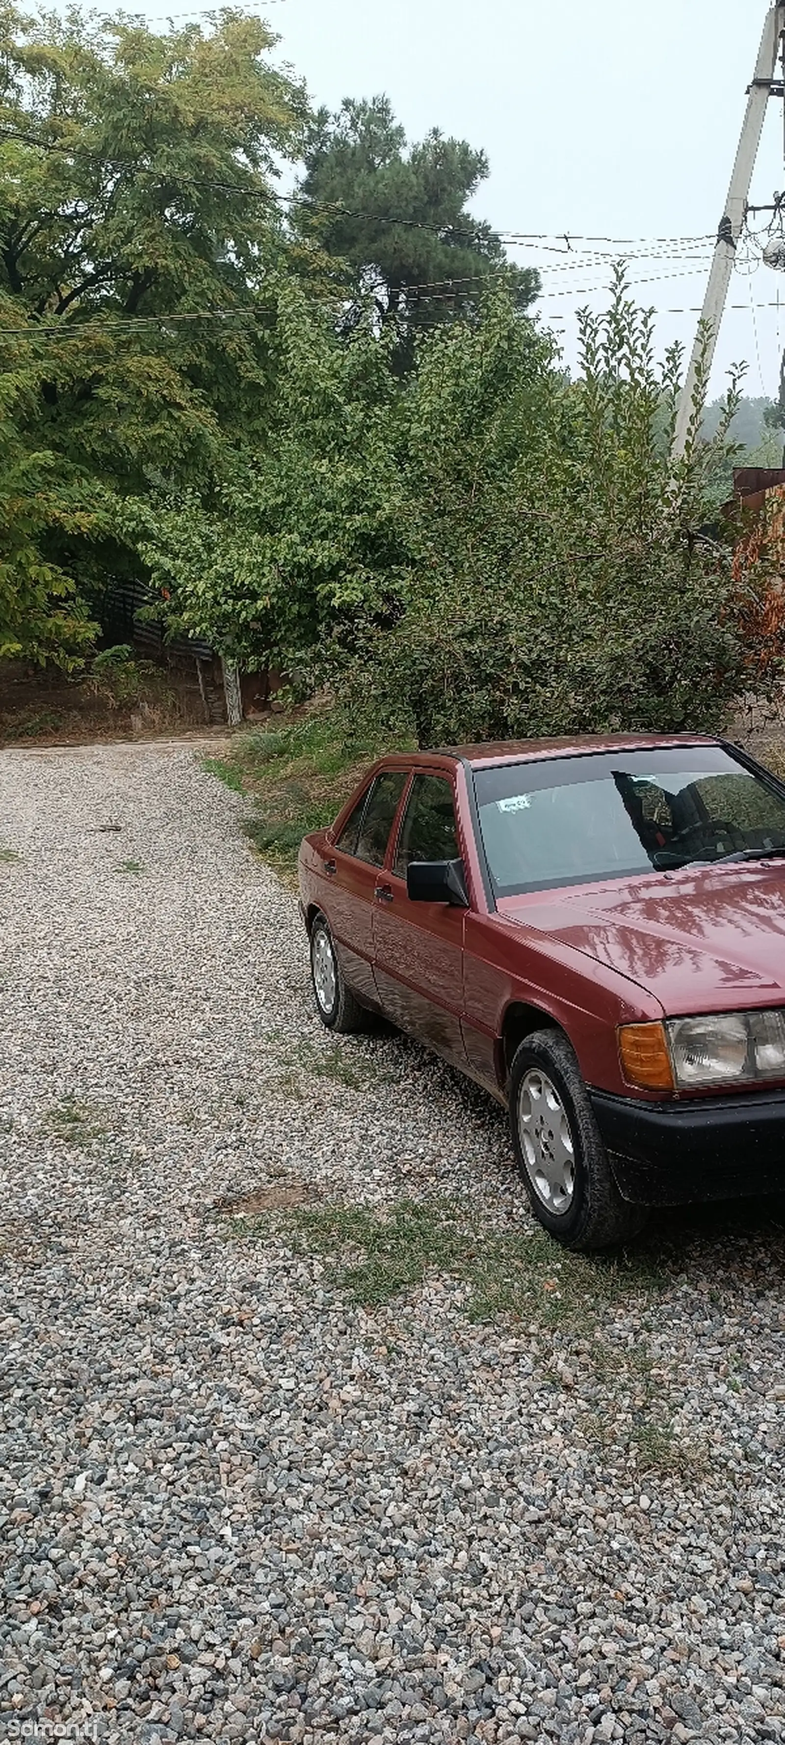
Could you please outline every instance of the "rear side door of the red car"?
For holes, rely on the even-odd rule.
[[[373,979],[373,897],[398,811],[406,770],[382,770],[349,813],[324,864],[324,914],[345,981],[361,1000],[379,1003]]]

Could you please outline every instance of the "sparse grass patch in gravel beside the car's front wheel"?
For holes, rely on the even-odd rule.
[[[262,1242],[283,1235],[295,1253],[316,1255],[351,1304],[365,1310],[394,1304],[399,1331],[406,1293],[431,1277],[454,1279],[466,1290],[471,1321],[520,1324],[544,1337],[543,1373],[551,1387],[597,1384],[602,1405],[579,1415],[581,1436],[621,1448],[638,1478],[658,1471],[684,1483],[700,1480],[706,1457],[673,1426],[670,1386],[647,1333],[672,1274],[645,1249],[612,1258],[570,1255],[537,1227],[499,1230],[478,1222],[469,1202],[450,1199],[234,1215],[227,1230]],[[625,1309],[638,1326],[633,1345],[616,1333],[616,1314]],[[565,1370],[574,1372],[572,1382]]]

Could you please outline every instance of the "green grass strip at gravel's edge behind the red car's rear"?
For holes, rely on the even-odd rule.
[[[276,869],[291,872],[307,831],[331,824],[368,764],[391,747],[359,733],[338,708],[274,721],[263,731],[239,733],[227,757],[204,759],[202,768],[251,796],[246,836]]]

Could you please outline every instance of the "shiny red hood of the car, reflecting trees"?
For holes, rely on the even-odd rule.
[[[785,860],[581,885],[499,909],[611,965],[665,1012],[785,1002]]]

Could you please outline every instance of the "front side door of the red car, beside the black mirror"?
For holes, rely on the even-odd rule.
[[[462,857],[452,778],[415,771],[373,902],[373,965],[387,1017],[466,1064],[461,1030],[466,909],[410,902],[410,860]]]

